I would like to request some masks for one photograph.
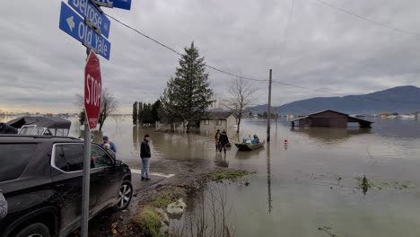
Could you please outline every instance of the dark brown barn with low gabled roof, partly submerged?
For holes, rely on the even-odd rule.
[[[347,127],[348,123],[358,123],[359,127],[372,127],[372,122],[354,118],[334,110],[324,110],[290,121],[292,127]]]

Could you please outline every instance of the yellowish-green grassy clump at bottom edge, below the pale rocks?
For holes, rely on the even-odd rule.
[[[139,214],[133,217],[133,221],[144,230],[147,237],[159,237],[162,226],[161,216],[153,206],[144,206]]]

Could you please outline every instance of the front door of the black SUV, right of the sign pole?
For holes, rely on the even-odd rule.
[[[94,168],[92,168],[91,177],[99,184],[96,194],[98,206],[101,208],[114,206],[122,181],[121,171],[116,167],[110,155],[99,145],[92,145],[92,159]]]

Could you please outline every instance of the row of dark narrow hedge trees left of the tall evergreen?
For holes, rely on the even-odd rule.
[[[133,103],[133,125],[150,126],[160,121],[158,110],[161,107],[161,101],[155,101],[153,104],[136,101]]]

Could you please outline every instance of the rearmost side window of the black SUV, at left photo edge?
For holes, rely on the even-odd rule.
[[[36,148],[36,144],[0,144],[0,182],[19,178]]]

